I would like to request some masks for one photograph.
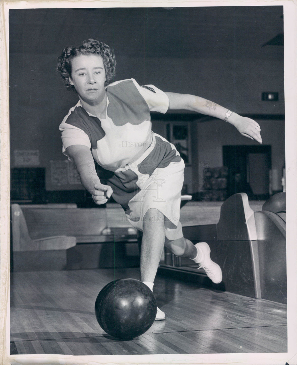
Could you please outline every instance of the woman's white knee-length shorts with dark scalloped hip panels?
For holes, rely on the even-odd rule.
[[[155,208],[165,217],[162,219],[166,237],[170,240],[183,237],[179,218],[184,167],[175,146],[153,133],[153,142],[145,153],[117,169],[107,180],[114,200],[122,205],[134,228],[143,231],[145,213]]]

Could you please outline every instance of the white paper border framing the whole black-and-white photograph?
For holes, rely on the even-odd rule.
[[[284,66],[285,66],[285,138],[286,138],[286,226],[288,278],[288,352],[244,354],[176,354],[176,355],[10,355],[10,218],[9,218],[9,64],[8,10],[17,8],[109,8],[109,7],[197,7],[197,6],[284,6]],[[0,364],[297,364],[297,297],[296,297],[296,230],[297,230],[297,3],[277,1],[1,1],[1,166],[0,166]]]

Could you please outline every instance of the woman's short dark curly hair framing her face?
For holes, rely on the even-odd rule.
[[[69,81],[69,77],[71,77],[71,60],[76,56],[88,54],[98,54],[102,57],[106,73],[105,86],[113,80],[116,74],[116,59],[113,50],[105,43],[90,38],[83,41],[78,48],[64,48],[62,54],[58,57],[57,71],[62,77],[67,90],[76,92]]]

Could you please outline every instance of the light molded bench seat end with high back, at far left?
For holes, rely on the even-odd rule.
[[[66,235],[31,239],[19,204],[11,205],[11,243],[14,271],[62,270],[66,250],[76,238]]]

